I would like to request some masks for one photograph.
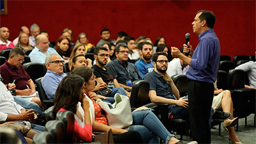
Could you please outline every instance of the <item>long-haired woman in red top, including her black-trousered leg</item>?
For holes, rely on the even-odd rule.
[[[53,113],[55,115],[60,111],[72,111],[75,115],[73,136],[73,141],[75,142],[92,141],[92,126],[94,127],[95,122],[92,115],[93,108],[91,107],[92,109],[90,109],[90,106],[93,105],[88,101],[90,99],[83,94],[86,93],[84,91],[86,87],[88,85],[84,83],[84,79],[81,76],[70,74],[61,80],[54,99]],[[115,143],[125,143],[127,141],[136,143],[141,141],[137,132],[129,132],[129,134],[127,134],[126,130],[123,130],[123,132],[126,133],[114,136]]]

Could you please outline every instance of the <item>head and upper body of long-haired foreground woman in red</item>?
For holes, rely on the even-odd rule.
[[[70,74],[62,79],[54,99],[53,113],[59,111],[72,111],[76,114],[73,141],[92,141],[92,122],[90,119],[90,106],[84,93],[84,79],[76,74]],[[77,111],[77,103],[81,102],[84,116]]]

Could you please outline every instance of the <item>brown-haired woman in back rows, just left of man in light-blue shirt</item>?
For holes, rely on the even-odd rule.
[[[33,47],[31,45],[29,45],[28,34],[20,33],[18,43],[17,43],[17,45],[15,45],[15,47],[19,47],[22,50],[24,50],[24,49],[33,49]]]

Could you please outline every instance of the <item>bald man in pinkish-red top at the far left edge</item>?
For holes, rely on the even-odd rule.
[[[8,40],[9,36],[10,36],[9,29],[6,27],[1,27],[0,28],[0,51],[3,49],[15,47],[15,45],[13,45],[13,43]]]

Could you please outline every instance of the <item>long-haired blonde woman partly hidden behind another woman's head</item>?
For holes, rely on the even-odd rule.
[[[76,56],[77,54],[83,54],[85,56],[85,47],[84,44],[76,44],[75,47],[73,48],[71,54],[70,54],[70,59]],[[88,67],[92,67],[92,60],[90,58],[86,59],[86,63]],[[72,67],[72,63],[68,63],[69,69]]]

